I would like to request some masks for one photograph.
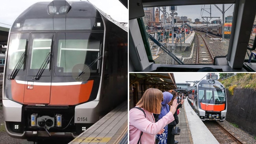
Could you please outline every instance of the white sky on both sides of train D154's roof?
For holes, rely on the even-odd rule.
[[[16,18],[32,4],[51,1],[52,0],[1,0],[0,26],[10,28]],[[118,22],[128,22],[128,9],[126,9],[119,0],[89,0],[89,2],[110,15],[114,20]]]

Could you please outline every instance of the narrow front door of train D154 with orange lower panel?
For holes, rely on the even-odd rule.
[[[24,103],[50,103],[54,33],[32,33],[26,62]]]

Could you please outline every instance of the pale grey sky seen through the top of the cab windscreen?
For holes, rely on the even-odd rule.
[[[224,17],[233,15],[234,4],[232,6],[231,5],[232,4],[224,5],[224,11],[226,11],[224,14]],[[217,4],[216,6],[218,6],[221,10],[223,10],[222,4]],[[230,8],[228,9],[228,7],[230,7]],[[162,7],[160,7],[160,9],[162,9]],[[169,11],[169,6],[166,7],[166,9],[167,9],[167,12],[170,14],[171,11]],[[204,10],[202,10],[202,9],[204,9]],[[195,19],[200,18],[200,16],[201,17],[210,17],[210,5],[177,6],[177,11],[175,11],[175,12],[178,13],[178,17],[186,16],[187,18],[191,18],[192,21],[195,22]],[[162,14],[163,13],[160,12],[160,15],[162,15]],[[223,19],[221,11],[219,11],[219,9],[217,9],[217,7],[215,7],[214,5],[211,5],[211,17],[220,17],[220,19]],[[211,20],[215,20],[215,19],[218,19],[218,18],[212,18]],[[206,20],[206,18],[205,18],[205,20]],[[208,18],[208,20],[209,20],[209,18]],[[202,19],[200,21],[202,21]]]

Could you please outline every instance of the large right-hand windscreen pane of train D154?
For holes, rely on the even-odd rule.
[[[99,36],[96,36],[99,35]],[[72,73],[78,64],[89,66],[99,57],[103,33],[58,33],[57,67],[64,73]],[[97,72],[99,61],[90,66],[90,72]]]

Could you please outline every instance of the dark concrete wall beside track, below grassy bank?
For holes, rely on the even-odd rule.
[[[256,135],[256,90],[234,89],[234,95],[230,95],[228,89],[226,120],[235,123],[240,129]]]

